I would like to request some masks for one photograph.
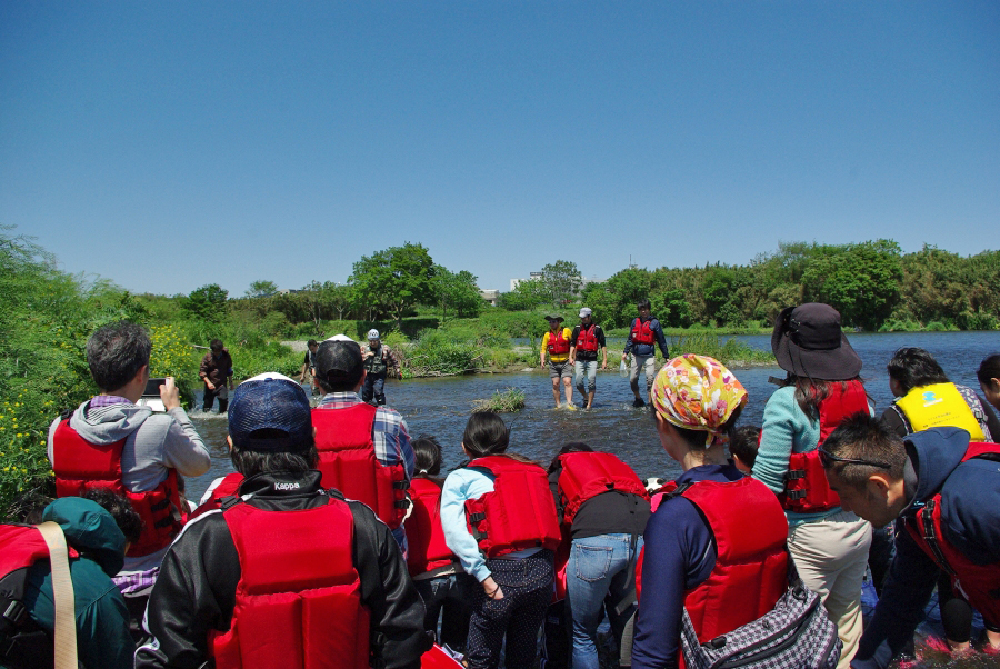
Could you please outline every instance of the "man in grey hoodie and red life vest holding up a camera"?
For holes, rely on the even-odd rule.
[[[114,579],[139,618],[160,560],[181,529],[178,475],[201,476],[211,466],[172,378],[160,386],[164,412],[137,403],[149,381],[151,349],[146,330],[134,323],[96,331],[87,342],[87,363],[101,392],[52,421],[48,439],[57,497],[108,488],[128,497],[142,519],[142,535]]]

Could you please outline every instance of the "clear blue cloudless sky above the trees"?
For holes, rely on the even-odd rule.
[[[172,294],[1000,241],[997,2],[2,2],[0,223]]]

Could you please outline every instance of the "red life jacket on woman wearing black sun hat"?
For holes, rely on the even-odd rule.
[[[788,460],[784,491],[778,496],[781,506],[798,513],[828,511],[840,506],[840,497],[830,490],[827,475],[819,459],[819,447],[844,419],[868,412],[868,396],[861,381],[830,385],[830,395],[820,402],[820,438],[807,453],[792,453]]]

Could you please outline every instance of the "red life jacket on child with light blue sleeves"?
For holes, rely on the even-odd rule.
[[[466,500],[469,533],[486,557],[537,547],[554,551],[559,547],[559,518],[544,469],[507,456],[478,458],[468,466],[496,477],[492,492]]]

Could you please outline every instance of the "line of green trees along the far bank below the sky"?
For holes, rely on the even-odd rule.
[[[254,281],[242,298],[227,300],[216,284],[201,287],[183,307],[210,318],[227,301],[279,312],[290,323],[323,320],[400,323],[418,307],[436,308],[442,320],[479,316],[486,302],[477,277],[433,262],[422,244],[407,243],[362,257],[347,283],[312,281],[278,293],[271,281]],[[848,244],[781,243],[748,264],[622,269],[607,281],[583,286],[576,263],[558,260],[538,277],[500,296],[506,311],[562,309],[586,304],[606,328],[628,327],[636,302],[648,298],[668,327],[770,327],[784,307],[827,302],[847,327],[863,330],[1000,328],[1000,251],[962,257],[924,246],[903,253],[892,240]]]

